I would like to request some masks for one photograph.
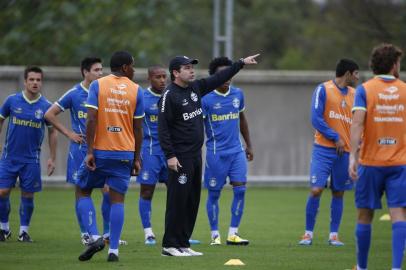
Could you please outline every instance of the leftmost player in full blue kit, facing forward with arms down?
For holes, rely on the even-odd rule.
[[[28,228],[34,211],[34,193],[42,189],[40,152],[45,125],[48,126],[51,156],[47,162],[48,176],[55,169],[57,132],[44,118],[51,103],[41,95],[42,79],[39,67],[26,68],[24,90],[8,96],[0,109],[0,131],[4,120],[9,118],[0,160],[0,241],[11,237],[9,195],[18,177],[21,188],[18,241],[32,242]]]

